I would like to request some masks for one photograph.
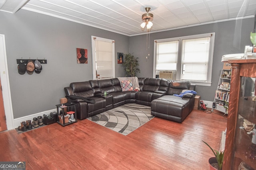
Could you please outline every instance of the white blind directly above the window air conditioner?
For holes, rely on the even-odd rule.
[[[157,43],[156,70],[176,70],[178,41]]]

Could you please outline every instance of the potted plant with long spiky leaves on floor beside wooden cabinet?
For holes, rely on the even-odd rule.
[[[204,142],[204,141],[203,141]],[[218,151],[212,149],[208,143],[204,142],[213,152],[215,157],[209,159],[210,170],[222,170],[223,158],[224,158],[224,151]]]

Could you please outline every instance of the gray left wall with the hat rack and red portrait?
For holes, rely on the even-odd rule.
[[[129,53],[129,37],[47,15],[19,10],[0,12],[5,35],[14,118],[56,108],[70,82],[92,80],[91,36],[115,40],[117,52]],[[88,64],[77,64],[76,48],[88,49]],[[47,59],[42,72],[18,74],[16,59]],[[116,61],[116,77],[125,76]]]

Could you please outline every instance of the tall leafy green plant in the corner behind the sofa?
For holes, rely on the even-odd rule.
[[[134,77],[136,76],[136,72],[140,72],[138,68],[138,58],[135,58],[132,54],[128,53],[124,55],[124,63],[123,66],[125,68],[126,76],[127,77]]]

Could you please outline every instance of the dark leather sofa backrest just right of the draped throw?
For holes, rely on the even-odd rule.
[[[145,78],[144,85],[140,87],[140,91],[155,92],[159,89],[161,79],[159,78]]]

